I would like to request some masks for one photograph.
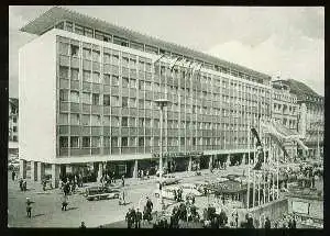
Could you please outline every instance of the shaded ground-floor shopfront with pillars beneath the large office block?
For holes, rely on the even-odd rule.
[[[267,154],[266,154],[267,155]],[[44,177],[52,177],[53,186],[57,187],[61,179],[67,176],[80,175],[85,181],[98,181],[103,175],[114,176],[119,179],[138,178],[139,171],[150,176],[156,175],[160,166],[160,156],[150,155],[146,158],[139,159],[114,159],[114,160],[98,160],[91,161],[95,158],[85,158],[84,162],[78,162],[76,159],[58,159],[55,164],[46,164],[41,161],[20,160],[21,178],[30,178],[34,181],[41,181]],[[221,151],[218,153],[170,153],[163,155],[163,166],[166,172],[197,171],[202,169],[221,168],[223,165],[245,165],[248,159],[254,160],[254,154],[249,151]],[[57,160],[57,159],[56,159]],[[62,161],[62,162],[61,162]],[[29,171],[28,171],[29,170]],[[29,172],[29,175],[28,175]]]

